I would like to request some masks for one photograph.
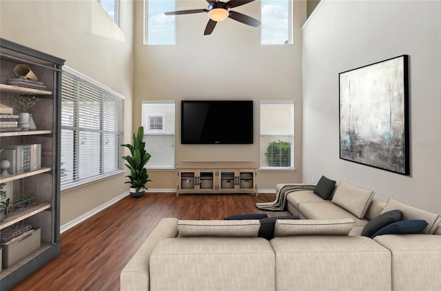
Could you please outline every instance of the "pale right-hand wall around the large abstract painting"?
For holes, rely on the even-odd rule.
[[[441,2],[323,0],[303,32],[303,172],[441,213]],[[339,159],[338,73],[409,54],[411,174]]]

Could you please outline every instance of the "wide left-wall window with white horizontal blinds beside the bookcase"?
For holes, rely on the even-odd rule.
[[[124,97],[70,68],[61,84],[61,188],[123,170]]]

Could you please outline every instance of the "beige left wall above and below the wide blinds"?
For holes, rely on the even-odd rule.
[[[121,25],[96,0],[0,1],[0,37],[65,59],[65,65],[125,96],[125,143],[132,137],[133,2],[121,1]],[[61,225],[127,191],[125,178],[61,193]]]

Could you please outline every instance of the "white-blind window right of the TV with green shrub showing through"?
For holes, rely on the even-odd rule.
[[[294,101],[260,102],[260,168],[294,169]]]

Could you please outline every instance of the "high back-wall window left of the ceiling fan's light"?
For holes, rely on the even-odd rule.
[[[153,45],[174,44],[174,16],[164,12],[174,11],[174,0],[144,0],[144,43]],[[150,162],[149,162],[150,163]]]

